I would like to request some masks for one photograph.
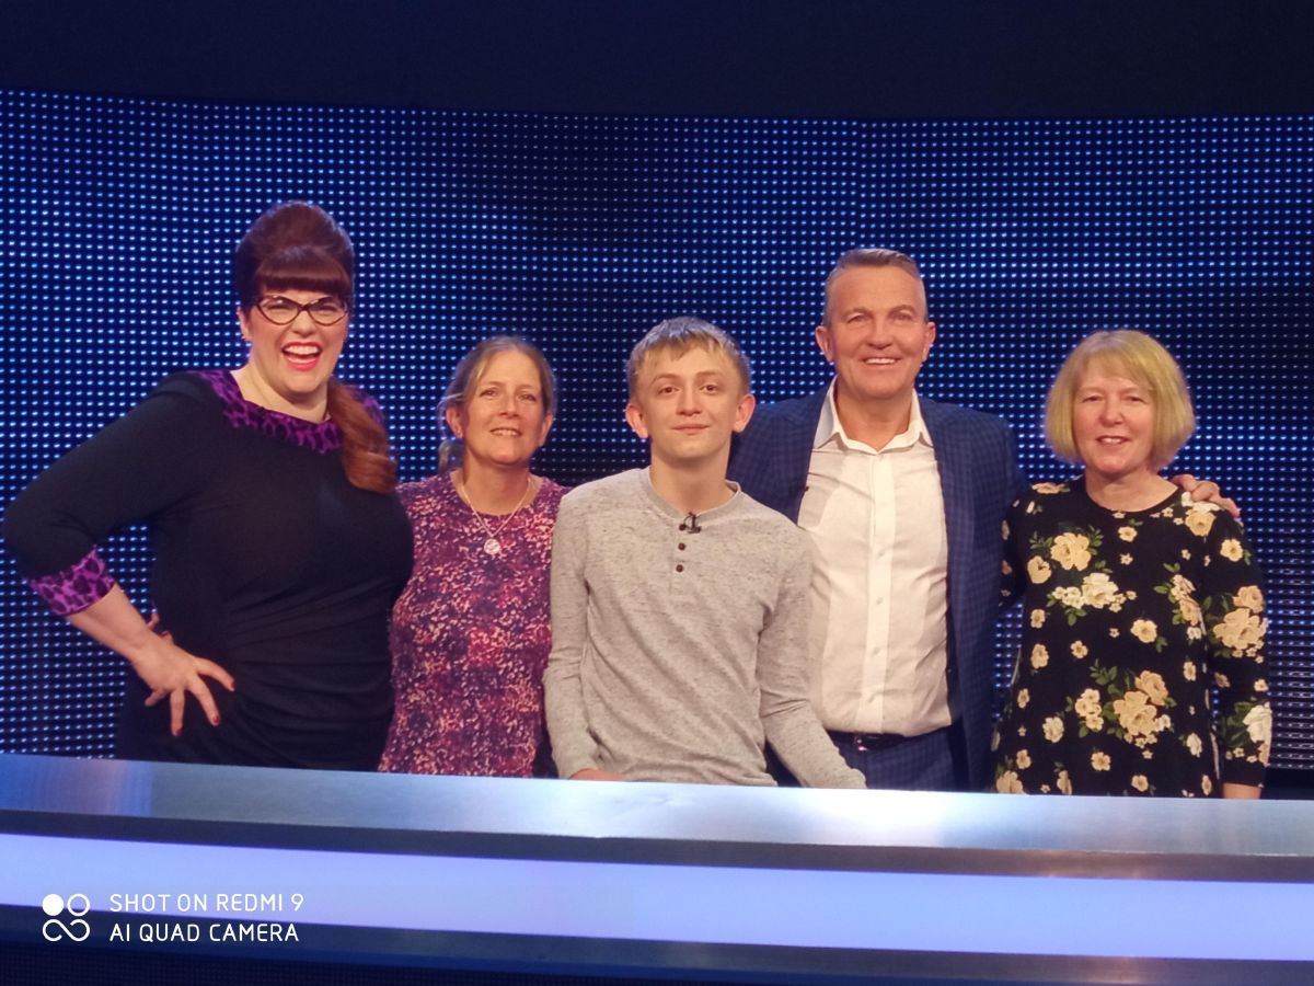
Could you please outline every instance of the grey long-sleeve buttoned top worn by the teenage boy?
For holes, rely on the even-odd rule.
[[[805,785],[862,787],[808,702],[805,536],[744,493],[696,530],[646,469],[561,501],[548,731],[562,777],[770,785],[763,741]]]

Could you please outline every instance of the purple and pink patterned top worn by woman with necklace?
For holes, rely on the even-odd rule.
[[[397,494],[415,567],[393,607],[397,713],[378,769],[530,777],[545,743],[548,575],[565,489],[544,480],[514,517],[486,518],[502,544],[495,556],[448,473]]]

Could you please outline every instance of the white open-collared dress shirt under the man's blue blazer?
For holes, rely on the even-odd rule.
[[[799,526],[813,550],[821,724],[903,736],[949,726],[945,498],[916,394],[908,429],[872,448],[845,434],[830,384]]]

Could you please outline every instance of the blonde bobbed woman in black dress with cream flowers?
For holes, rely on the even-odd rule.
[[[1181,371],[1148,335],[1095,333],[1045,423],[1085,471],[1037,484],[1005,527],[1024,632],[996,790],[1257,798],[1272,740],[1263,580],[1240,526],[1159,476],[1196,425]]]

